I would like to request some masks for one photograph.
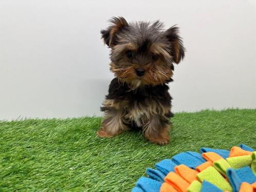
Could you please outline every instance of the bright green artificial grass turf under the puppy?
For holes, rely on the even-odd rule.
[[[0,191],[130,191],[147,167],[200,147],[256,148],[256,109],[176,113],[171,142],[96,136],[101,118],[0,122]]]

